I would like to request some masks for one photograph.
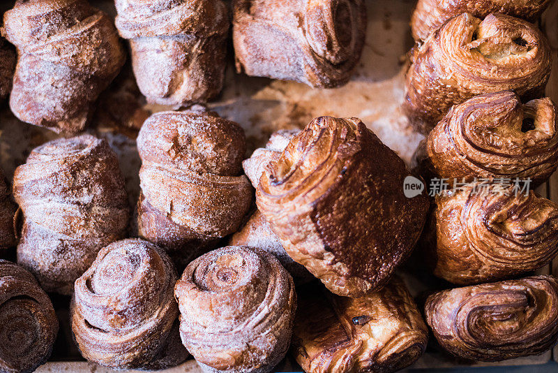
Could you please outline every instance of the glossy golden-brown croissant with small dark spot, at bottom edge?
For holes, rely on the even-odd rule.
[[[428,329],[405,284],[393,277],[362,298],[299,294],[292,352],[308,373],[395,372],[424,352]]]

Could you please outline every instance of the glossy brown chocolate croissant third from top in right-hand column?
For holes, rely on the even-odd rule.
[[[550,98],[522,104],[512,91],[453,106],[423,142],[427,173],[448,180],[508,178],[545,182],[558,166],[558,123]]]

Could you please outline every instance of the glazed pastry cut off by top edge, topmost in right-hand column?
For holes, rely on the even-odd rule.
[[[411,17],[415,40],[425,40],[444,22],[461,13],[484,18],[490,13],[503,13],[534,22],[548,8],[551,0],[418,0]]]

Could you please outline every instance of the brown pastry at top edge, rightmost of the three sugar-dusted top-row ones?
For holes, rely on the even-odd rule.
[[[234,0],[232,26],[239,73],[331,88],[359,63],[366,9],[363,0]]]

